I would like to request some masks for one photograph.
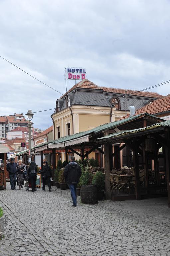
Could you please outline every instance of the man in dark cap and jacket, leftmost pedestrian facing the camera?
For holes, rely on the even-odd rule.
[[[14,158],[10,159],[10,162],[7,164],[7,171],[9,172],[9,179],[11,184],[11,189],[15,189],[15,185],[17,182],[17,170],[18,165],[15,163]]]

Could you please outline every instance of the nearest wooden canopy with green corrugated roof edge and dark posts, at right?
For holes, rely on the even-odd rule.
[[[132,129],[114,133],[103,138],[99,138],[99,144],[104,144],[104,158],[105,158],[105,175],[106,175],[106,188],[107,197],[110,198],[110,168],[109,162],[111,161],[109,155],[109,145],[117,142],[128,145],[133,152],[133,163],[135,170],[135,195],[136,199],[141,199],[141,189],[139,180],[139,154],[143,156],[143,168],[144,168],[144,184],[146,192],[149,193],[149,169],[148,159],[154,161],[154,172],[156,183],[154,189],[161,192],[162,189],[167,191],[168,195],[168,206],[170,207],[170,121],[164,121],[157,124],[153,124],[147,127]],[[150,144],[148,144],[150,142]],[[159,156],[158,150],[162,148],[163,154],[161,158],[165,161],[165,177],[166,177],[166,188],[160,184],[159,175]],[[115,152],[116,154],[116,152]]]

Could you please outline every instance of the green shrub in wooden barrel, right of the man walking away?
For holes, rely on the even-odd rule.
[[[86,166],[80,178],[80,197],[83,204],[97,203],[97,187],[92,185],[93,168]]]

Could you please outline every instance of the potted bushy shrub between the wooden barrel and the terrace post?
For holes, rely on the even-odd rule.
[[[97,171],[96,174],[93,174],[92,184],[97,187],[97,199],[103,200],[104,197],[104,174],[101,171]]]

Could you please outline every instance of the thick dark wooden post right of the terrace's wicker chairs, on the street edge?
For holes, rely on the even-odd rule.
[[[138,157],[137,140],[134,140],[133,164],[134,164],[134,171],[135,171],[135,195],[136,195],[136,200],[140,200],[141,195],[140,195],[139,157]]]

